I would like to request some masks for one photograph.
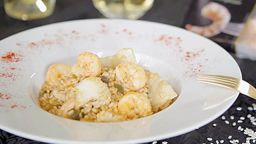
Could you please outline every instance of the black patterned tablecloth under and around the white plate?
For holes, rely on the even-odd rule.
[[[141,20],[155,21],[181,27],[187,11],[193,0],[156,0],[153,7],[141,17]],[[3,1],[0,2],[0,40],[9,37],[20,31],[57,23],[61,21],[71,21],[76,19],[103,18],[101,13],[93,7],[91,0],[57,0],[53,15],[35,21],[19,21],[9,17],[3,8]],[[243,79],[256,87],[256,61],[249,59],[239,59],[235,54],[230,53],[237,61]],[[242,110],[237,109],[242,108]],[[247,137],[243,129],[249,128],[256,131],[256,125],[251,123],[249,116],[256,117],[256,100],[240,94],[238,99],[223,115],[213,120],[211,123],[200,127],[189,133],[171,137],[169,139],[156,139],[149,143],[245,143]],[[225,117],[225,120],[224,120]],[[242,118],[241,118],[242,117]],[[243,119],[243,117],[245,119]],[[1,117],[1,119],[3,119]],[[242,123],[239,123],[242,119]],[[229,121],[229,124],[226,122]],[[233,126],[233,123],[236,123]],[[256,137],[256,132],[254,133]],[[211,140],[211,141],[210,141]],[[237,141],[238,140],[238,141]],[[255,140],[256,141],[256,140]],[[250,143],[256,143],[251,140]],[[42,143],[31,139],[25,139],[0,129],[0,143]]]

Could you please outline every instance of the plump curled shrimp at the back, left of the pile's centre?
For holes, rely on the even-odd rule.
[[[77,63],[71,67],[71,72],[77,77],[98,77],[101,74],[101,61],[93,53],[83,52],[77,58]]]

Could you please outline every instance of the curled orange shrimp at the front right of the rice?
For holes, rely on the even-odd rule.
[[[121,113],[126,113],[128,118],[133,118],[135,115],[146,117],[152,114],[151,103],[145,93],[129,92],[123,95],[118,102],[117,109]]]

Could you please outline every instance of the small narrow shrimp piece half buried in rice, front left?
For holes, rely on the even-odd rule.
[[[75,98],[71,98],[68,101],[66,101],[61,108],[57,111],[57,115],[60,117],[69,118],[69,115],[67,114],[71,109],[75,108]]]

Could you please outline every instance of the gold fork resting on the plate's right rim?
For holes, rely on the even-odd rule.
[[[197,81],[227,87],[256,99],[256,89],[241,79],[223,75],[199,75]]]

